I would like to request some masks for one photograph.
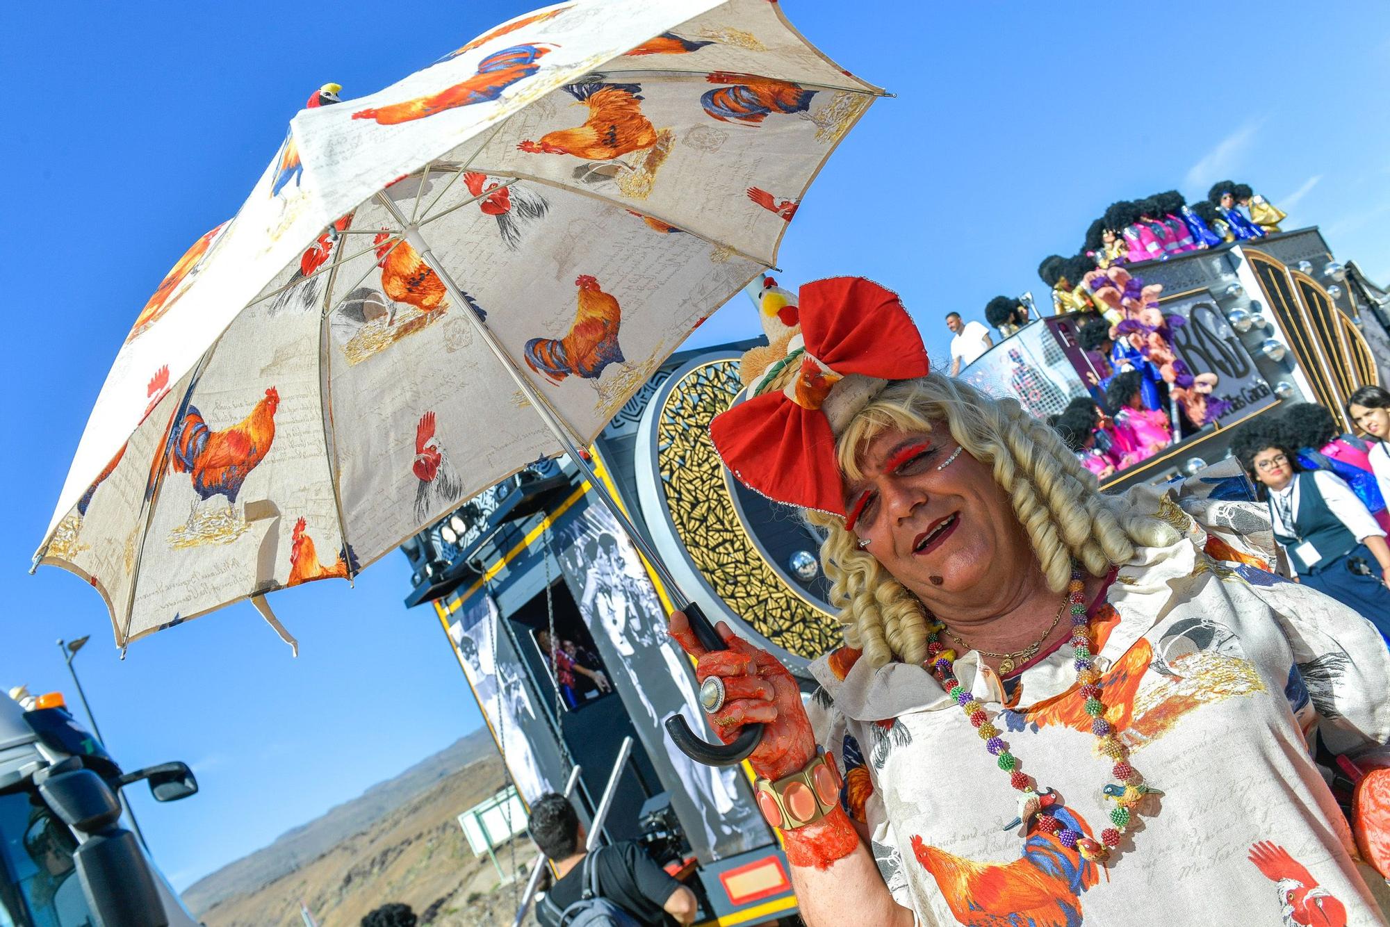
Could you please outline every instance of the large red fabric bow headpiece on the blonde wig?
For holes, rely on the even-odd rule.
[[[898,295],[862,277],[801,288],[801,335],[787,357],[716,416],[709,434],[734,477],[769,499],[844,517],[835,435],[894,379],[926,377],[922,335]],[[788,364],[798,375],[763,392]]]

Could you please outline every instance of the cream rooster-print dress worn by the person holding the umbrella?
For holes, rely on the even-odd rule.
[[[919,924],[1386,924],[1390,894],[1357,859],[1312,756],[1384,752],[1390,652],[1357,613],[1264,568],[1268,518],[1241,495],[1195,477],[1126,496],[1183,536],[1120,564],[1093,606],[1105,719],[1162,792],[1106,863],[1015,820],[1009,776],[924,668],[874,670],[848,648],[813,664],[817,741]],[[1070,648],[1026,667],[1008,695],[974,652],[955,674],[1020,769],[1054,789],[1047,810],[1099,839],[1113,760],[1094,748]]]

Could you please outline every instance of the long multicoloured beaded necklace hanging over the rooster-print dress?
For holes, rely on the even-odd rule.
[[[1009,774],[1009,785],[1020,792],[1017,823],[1009,824],[1005,830],[1022,826],[1023,834],[1027,835],[1029,823],[1036,817],[1040,831],[1056,834],[1058,841],[1068,849],[1074,848],[1083,858],[1104,863],[1109,859],[1111,851],[1119,846],[1120,835],[1138,813],[1138,803],[1147,795],[1162,795],[1162,792],[1144,785],[1144,778],[1127,762],[1129,748],[1120,742],[1111,728],[1111,723],[1105,720],[1105,705],[1101,702],[1101,674],[1091,656],[1091,625],[1086,614],[1086,582],[1081,575],[1081,568],[1072,564],[1072,581],[1068,584],[1066,592],[1072,612],[1070,643],[1076,681],[1081,687],[1079,695],[1086,699],[1086,713],[1091,716],[1091,732],[1097,737],[1097,749],[1101,755],[1115,760],[1111,774],[1119,780],[1104,788],[1105,796],[1115,802],[1109,814],[1113,827],[1106,827],[1101,832],[1099,841],[1065,826],[1058,817],[1048,813],[1047,809],[1058,801],[1056,794],[1051,788],[1038,788],[1033,777],[1019,769],[1019,759],[1009,752],[1009,745],[999,737],[999,728],[984,713],[984,706],[955,678],[956,652],[937,639],[937,635],[945,630],[944,624],[938,623],[930,628],[926,666],[941,688],[956,700],[966,717],[970,719],[970,724],[977,728],[980,739],[984,741],[984,749],[998,757],[999,769]]]

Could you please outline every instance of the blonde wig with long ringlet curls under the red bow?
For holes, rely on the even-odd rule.
[[[840,468],[858,479],[860,453],[885,428],[933,431],[942,423],[970,456],[992,466],[1054,592],[1066,589],[1073,560],[1105,575],[1138,546],[1177,541],[1177,532],[1158,518],[1122,513],[1118,498],[1102,495],[1095,475],[1017,400],[992,399],[938,372],[892,382],[865,406],[837,438]],[[817,511],[806,517],[827,535],[820,560],[847,643],[876,667],[894,659],[923,662],[927,614],[916,596],[859,549],[841,518]]]

